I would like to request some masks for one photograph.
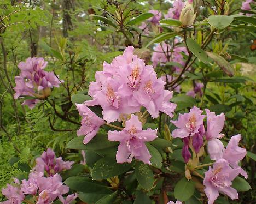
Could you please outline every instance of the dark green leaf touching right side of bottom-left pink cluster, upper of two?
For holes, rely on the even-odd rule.
[[[94,193],[97,191],[104,192],[104,194],[113,193],[106,185],[98,184],[95,181],[92,181],[91,178],[84,176],[72,176],[66,179],[64,182],[69,188],[84,192],[84,193]]]

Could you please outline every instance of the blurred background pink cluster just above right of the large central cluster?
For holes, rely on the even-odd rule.
[[[178,40],[175,39],[175,44],[178,43]],[[169,44],[166,43],[159,43],[154,47],[154,52],[151,58],[151,61],[153,62],[153,66],[156,67],[158,63],[160,65],[164,65],[166,62],[177,62],[184,66],[183,56],[181,52],[184,52],[186,55],[188,55],[188,51],[186,47],[178,47],[175,46],[172,47]],[[175,71],[180,71],[179,67],[174,67]]]

